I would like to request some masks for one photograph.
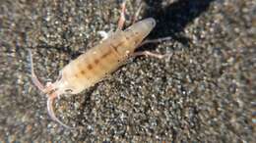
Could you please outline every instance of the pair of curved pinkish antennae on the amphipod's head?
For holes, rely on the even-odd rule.
[[[38,80],[37,76],[34,73],[33,70],[33,62],[32,62],[32,50],[29,49],[29,53],[30,53],[30,61],[31,61],[31,72],[32,72],[32,83],[43,93],[45,93],[47,95],[47,111],[48,114],[50,116],[51,119],[57,121],[58,123],[60,123],[62,126],[69,128],[69,129],[74,129],[75,127],[71,127],[65,123],[63,123],[62,121],[60,121],[59,119],[56,118],[54,111],[53,111],[53,102],[56,99],[56,97],[58,96],[55,92],[52,92],[52,89],[50,89],[50,86],[44,86],[41,84],[41,82]],[[52,83],[49,83],[49,85],[51,85]]]

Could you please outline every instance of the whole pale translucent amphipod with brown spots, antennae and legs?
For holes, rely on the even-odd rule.
[[[119,28],[115,32],[65,66],[54,83],[48,82],[46,86],[43,86],[34,74],[32,66],[32,81],[36,87],[47,94],[47,110],[52,119],[67,128],[73,128],[55,117],[52,103],[56,97],[67,93],[77,94],[95,85],[107,74],[117,70],[129,56],[149,55],[162,58],[162,55],[148,51],[134,53],[135,49],[142,44],[143,39],[155,27],[156,21],[153,18],[145,19],[121,30],[123,23],[124,20],[120,19]],[[163,38],[163,40],[166,39],[168,38]],[[30,53],[32,62],[32,52],[30,51]]]

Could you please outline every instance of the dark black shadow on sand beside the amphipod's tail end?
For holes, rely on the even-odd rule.
[[[177,0],[168,6],[162,6],[162,0],[145,0],[149,7],[144,18],[153,17],[156,28],[150,34],[151,39],[170,36],[174,41],[187,45],[189,38],[180,35],[189,23],[208,10],[214,0]],[[156,46],[155,46],[156,47]]]

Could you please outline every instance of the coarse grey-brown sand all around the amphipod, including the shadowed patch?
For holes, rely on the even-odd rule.
[[[256,142],[256,2],[141,2],[139,18],[157,20],[148,38],[172,39],[138,50],[172,57],[131,59],[83,93],[62,96],[57,117],[84,126],[68,130],[49,119],[27,49],[40,80],[54,81],[97,44],[98,30],[116,28],[120,1],[1,0],[0,141]],[[127,16],[139,4],[129,0]]]

